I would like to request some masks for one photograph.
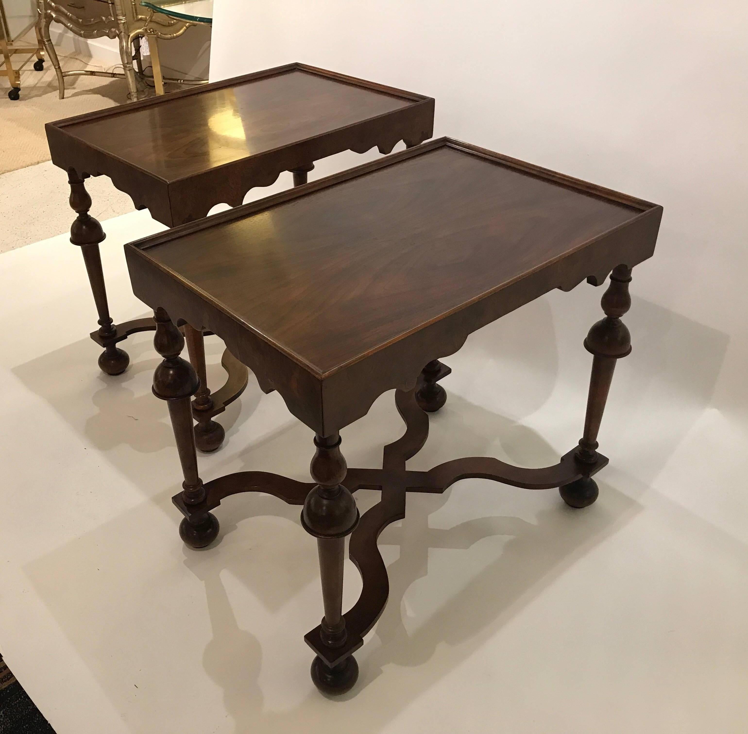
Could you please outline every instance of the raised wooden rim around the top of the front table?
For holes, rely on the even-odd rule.
[[[408,160],[409,158],[413,158],[416,155],[424,155],[428,152],[431,152],[432,150],[441,147],[448,147],[468,153],[470,155],[476,155],[479,158],[484,158],[495,164],[500,164],[513,170],[518,170],[521,173],[526,173],[527,175],[535,176],[536,178],[548,180],[557,185],[562,185],[565,188],[571,188],[574,191],[579,191],[581,194],[586,194],[607,201],[609,203],[613,201],[615,203],[622,204],[623,206],[628,206],[633,210],[633,216],[631,217],[631,219],[613,226],[610,229],[607,229],[605,232],[601,232],[599,235],[596,235],[595,237],[592,237],[589,240],[580,243],[579,245],[577,245],[577,247],[574,247],[573,250],[568,250],[568,252],[564,253],[561,256],[551,257],[545,262],[537,265],[535,268],[525,271],[524,273],[512,278],[511,280],[507,280],[506,282],[501,283],[499,286],[494,286],[493,288],[490,288],[485,292],[477,294],[469,300],[466,300],[463,303],[459,303],[452,309],[442,312],[438,316],[435,316],[428,321],[423,321],[423,323],[417,324],[414,327],[411,327],[411,329],[393,336],[386,342],[382,342],[381,344],[376,345],[375,348],[370,348],[369,350],[364,351],[361,354],[357,354],[355,357],[351,357],[346,362],[341,363],[334,368],[328,369],[327,371],[320,370],[318,367],[305,360],[304,357],[301,357],[300,354],[296,354],[295,351],[288,348],[286,345],[279,344],[275,341],[275,339],[267,336],[252,324],[248,324],[247,321],[245,321],[239,314],[233,312],[218,300],[215,300],[215,298],[212,297],[211,294],[203,291],[203,289],[201,289],[195,283],[191,283],[191,281],[186,280],[186,278],[177,273],[177,271],[174,271],[172,268],[169,268],[168,265],[164,265],[162,262],[159,262],[157,259],[148,255],[146,252],[153,247],[158,247],[161,244],[166,244],[167,242],[180,238],[183,235],[191,235],[196,232],[200,232],[203,229],[209,229],[214,226],[221,226],[223,224],[230,223],[233,220],[245,218],[245,216],[248,215],[266,212],[269,209],[273,209],[275,206],[281,206],[282,204],[287,203],[291,200],[314,194],[317,191],[325,188],[332,188],[338,184],[358,178],[359,176],[366,176],[368,173],[372,173],[375,170],[389,167],[391,165],[396,165],[401,161]],[[557,173],[556,171],[550,170],[548,168],[543,168],[540,166],[536,166],[535,164],[526,163],[525,161],[520,161],[517,158],[510,158],[508,155],[502,155],[485,148],[458,141],[454,138],[443,137],[436,138],[435,140],[428,141],[411,149],[406,149],[398,153],[385,155],[375,161],[364,163],[355,168],[349,168],[347,170],[341,171],[340,173],[334,173],[332,176],[325,176],[325,178],[317,179],[316,181],[313,181],[309,184],[297,186],[286,191],[281,191],[279,194],[274,194],[272,196],[248,204],[242,204],[242,206],[237,206],[234,209],[228,210],[227,212],[220,212],[218,214],[210,215],[206,218],[194,222],[180,224],[178,226],[172,227],[171,229],[165,230],[165,232],[157,232],[155,235],[149,235],[148,237],[128,242],[125,244],[125,249],[131,251],[132,253],[137,253],[138,256],[147,260],[147,262],[150,262],[156,268],[159,268],[159,270],[170,274],[171,277],[174,277],[174,279],[177,280],[178,283],[182,283],[183,286],[206,300],[215,309],[218,309],[229,318],[232,318],[242,327],[249,330],[251,333],[254,333],[255,336],[263,339],[263,341],[270,345],[272,348],[281,351],[282,354],[285,354],[286,357],[292,359],[299,366],[303,367],[307,371],[310,371],[310,374],[312,374],[313,377],[315,377],[317,380],[322,381],[328,379],[329,377],[332,377],[334,374],[337,374],[337,372],[342,371],[343,369],[346,369],[354,365],[355,363],[366,359],[367,357],[370,357],[376,352],[389,347],[395,342],[399,342],[401,339],[405,339],[412,333],[426,328],[431,324],[435,324],[437,321],[441,321],[456,312],[462,311],[462,309],[468,308],[473,303],[477,303],[480,300],[490,296],[491,294],[494,294],[511,286],[513,283],[518,282],[518,280],[522,280],[538,271],[541,271],[543,268],[547,268],[549,265],[553,265],[554,262],[568,257],[572,253],[576,253],[584,247],[589,247],[589,245],[593,244],[595,241],[601,240],[619,229],[631,226],[632,223],[640,220],[640,218],[652,215],[652,212],[656,212],[657,210],[659,210],[659,212],[661,213],[662,209],[662,206],[660,206],[659,204],[654,204],[643,199],[631,197],[628,194],[622,194],[619,191],[613,191],[613,189],[605,188],[597,184],[591,184],[589,182],[583,181],[582,179],[575,179],[572,176],[566,176],[563,173]]]

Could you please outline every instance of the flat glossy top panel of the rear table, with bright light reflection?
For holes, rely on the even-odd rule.
[[[91,120],[76,126],[76,135],[172,181],[410,103],[295,69],[105,123]]]

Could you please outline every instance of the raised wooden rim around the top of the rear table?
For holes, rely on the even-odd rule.
[[[78,123],[88,123],[88,122],[91,122],[91,120],[96,120],[99,118],[115,117],[120,114],[129,114],[133,111],[138,111],[142,108],[150,107],[152,105],[165,104],[166,102],[171,102],[174,99],[182,99],[183,97],[186,97],[186,96],[192,96],[195,94],[203,94],[210,90],[239,86],[240,84],[245,84],[248,81],[257,81],[257,79],[271,78],[272,76],[281,76],[283,74],[286,74],[292,71],[304,71],[310,74],[316,74],[316,75],[323,76],[326,78],[331,78],[334,81],[340,82],[340,84],[349,84],[352,87],[364,87],[373,92],[386,94],[388,96],[397,97],[399,99],[406,99],[409,102],[411,102],[411,105],[408,105],[406,108],[413,108],[413,107],[416,107],[417,105],[422,105],[422,104],[429,104],[429,103],[433,104],[435,102],[435,99],[433,97],[429,97],[423,94],[417,94],[415,92],[408,92],[406,90],[398,89],[396,87],[388,87],[386,84],[378,84],[378,82],[375,82],[375,81],[368,81],[367,79],[361,79],[355,76],[340,74],[340,73],[330,71],[327,69],[321,69],[319,67],[312,67],[309,64],[301,64],[301,62],[299,61],[294,61],[292,62],[292,64],[284,64],[281,67],[273,67],[272,69],[266,69],[266,70],[262,70],[259,72],[252,72],[250,74],[245,74],[242,76],[234,76],[229,79],[223,79],[221,81],[214,81],[211,84],[203,84],[203,86],[197,87],[194,89],[185,89],[185,90],[180,90],[177,92],[170,92],[165,95],[150,97],[149,99],[141,99],[138,102],[129,102],[125,105],[119,105],[115,108],[108,107],[103,110],[94,110],[93,112],[85,112],[84,114],[79,114],[79,115],[76,115],[75,117],[65,117],[62,120],[55,120],[54,122],[51,122],[51,123],[45,123],[44,127],[45,129],[55,129],[62,135],[66,135],[67,137],[73,139],[73,141],[76,141],[77,144],[85,145],[86,147],[89,147],[92,150],[95,150],[96,152],[99,152],[102,155],[105,155],[108,158],[111,158],[113,161],[117,161],[120,164],[129,166],[133,170],[137,170],[140,173],[143,173],[145,176],[150,176],[150,178],[166,186],[174,185],[177,182],[186,181],[188,179],[193,178],[194,176],[200,175],[200,173],[204,173],[204,171],[200,173],[191,173],[191,174],[188,174],[187,176],[181,176],[180,178],[177,178],[177,179],[165,179],[163,176],[159,176],[158,173],[153,173],[153,171],[147,170],[146,168],[139,166],[137,163],[133,163],[132,161],[129,161],[126,158],[122,158],[120,155],[117,155],[117,153],[113,153],[97,145],[94,145],[93,143],[82,140],[82,138],[79,138],[72,131],[70,131],[69,128],[71,126],[77,125]],[[401,109],[405,109],[405,108],[401,108]],[[357,125],[361,125],[364,122],[370,122],[371,120],[378,120],[380,117],[387,117],[387,115],[393,114],[393,112],[396,112],[396,111],[397,110],[393,110],[390,112],[382,112],[381,114],[373,115],[373,117],[367,117],[366,120],[361,120],[358,123],[350,123],[349,125],[343,125],[343,126],[337,127],[334,130],[328,130],[326,132],[319,133],[319,135],[311,135],[309,138],[301,138],[298,141],[294,141],[292,145],[305,143],[307,141],[312,141],[315,138],[323,138],[325,135],[330,135],[332,132],[340,132],[340,131],[355,127]],[[222,163],[221,165],[213,166],[209,168],[208,170],[220,170],[223,167],[229,167],[229,166],[239,164],[240,161],[246,161],[248,158],[254,158],[258,155],[269,155],[272,152],[286,148],[289,145],[291,144],[286,144],[286,145],[278,146],[275,148],[269,148],[267,150],[263,150],[259,153],[254,153],[251,155],[245,155],[244,158],[237,158],[235,161],[228,161],[227,163]]]

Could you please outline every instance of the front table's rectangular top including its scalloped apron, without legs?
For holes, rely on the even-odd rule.
[[[654,251],[662,208],[442,138],[126,245],[135,295],[319,433],[468,334]]]

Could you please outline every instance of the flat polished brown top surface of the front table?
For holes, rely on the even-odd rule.
[[[442,141],[138,248],[323,376],[642,212]]]

